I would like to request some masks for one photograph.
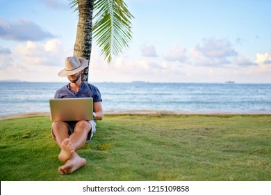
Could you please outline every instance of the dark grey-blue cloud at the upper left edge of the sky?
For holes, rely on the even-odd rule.
[[[17,20],[8,22],[0,17],[0,37],[6,40],[45,40],[47,38],[55,38],[48,31],[44,31],[38,24],[30,20]]]

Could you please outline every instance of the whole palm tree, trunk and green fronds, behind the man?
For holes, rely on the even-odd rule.
[[[70,0],[71,1],[71,0]],[[131,41],[131,19],[133,15],[123,0],[72,0],[72,8],[79,12],[74,56],[90,61],[93,38],[101,49],[101,55],[110,63]],[[92,27],[92,14],[95,12]],[[88,68],[82,81],[88,82]]]

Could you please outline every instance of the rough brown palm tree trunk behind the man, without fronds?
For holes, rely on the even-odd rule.
[[[94,0],[78,0],[79,21],[77,24],[74,56],[90,61],[92,48],[92,13]],[[88,82],[88,68],[85,68],[82,81]]]

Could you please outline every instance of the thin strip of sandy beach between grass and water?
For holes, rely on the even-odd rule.
[[[271,114],[271,111],[165,111],[165,110],[113,110],[104,114]],[[31,112],[20,114],[0,114],[0,120],[25,118],[31,116],[50,116],[49,112]]]

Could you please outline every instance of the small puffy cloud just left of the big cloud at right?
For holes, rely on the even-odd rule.
[[[165,56],[165,60],[185,62],[187,60],[186,49],[179,47],[179,45],[172,45],[170,47],[170,54]]]

